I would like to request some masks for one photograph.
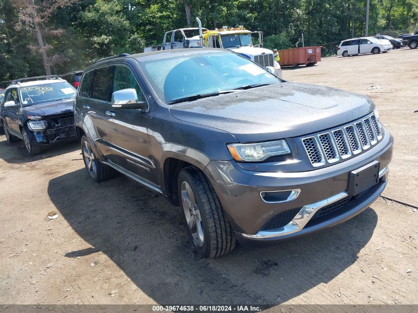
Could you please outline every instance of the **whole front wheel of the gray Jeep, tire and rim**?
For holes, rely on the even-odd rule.
[[[178,190],[196,252],[204,258],[215,258],[231,251],[235,247],[235,234],[203,173],[193,166],[184,168],[179,174]]]

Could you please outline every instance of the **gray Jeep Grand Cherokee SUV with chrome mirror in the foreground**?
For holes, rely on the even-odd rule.
[[[285,82],[232,51],[122,54],[84,71],[75,125],[95,181],[182,207],[213,258],[342,223],[381,194],[393,138],[372,100]]]

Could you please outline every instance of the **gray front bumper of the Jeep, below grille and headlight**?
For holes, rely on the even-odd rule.
[[[372,149],[325,168],[297,173],[260,173],[244,170],[233,161],[211,161],[206,172],[240,242],[277,241],[341,223],[366,209],[386,186],[387,171],[382,170],[387,168],[392,158],[392,145],[393,137],[385,130],[382,140]],[[315,208],[320,209],[346,196],[350,173],[374,160],[380,163],[380,182],[361,199],[350,201],[340,215],[316,219],[316,223],[309,223],[310,218],[304,224],[292,221],[296,224],[273,229],[268,234],[260,232],[267,222],[282,212],[309,208],[313,213]],[[300,189],[300,194],[289,202],[266,203],[260,196],[260,192],[290,189]],[[310,216],[312,218],[313,214]]]

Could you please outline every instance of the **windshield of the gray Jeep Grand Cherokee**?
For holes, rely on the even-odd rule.
[[[280,82],[264,68],[232,52],[160,58],[141,62],[139,66],[157,96],[166,103],[193,95]]]

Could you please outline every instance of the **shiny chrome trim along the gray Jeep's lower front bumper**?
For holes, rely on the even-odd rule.
[[[386,175],[388,172],[388,167],[386,166],[381,171],[379,171],[379,179]],[[247,238],[272,238],[272,237],[280,237],[284,235],[289,235],[298,231],[301,231],[303,227],[305,227],[306,224],[312,219],[314,214],[321,208],[330,205],[334,202],[337,202],[341,199],[344,199],[348,196],[348,193],[346,191],[337,193],[329,198],[326,198],[324,200],[305,205],[300,209],[299,213],[293,218],[293,220],[279,228],[280,230],[262,230],[256,233],[255,235],[248,235],[248,234],[242,234],[242,236]]]

